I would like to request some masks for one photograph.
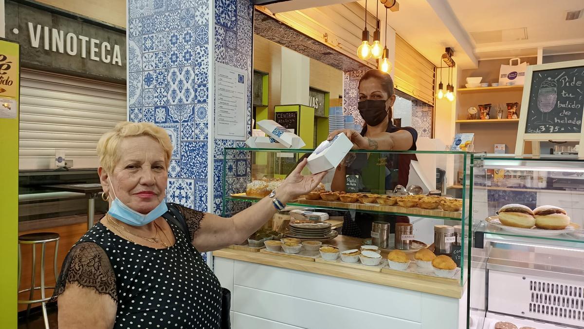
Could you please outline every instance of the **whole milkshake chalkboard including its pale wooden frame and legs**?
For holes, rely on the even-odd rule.
[[[523,88],[522,114],[517,129],[516,156],[523,156],[524,142],[578,141],[584,145],[584,60],[530,65]],[[579,157],[584,158],[580,147]]]

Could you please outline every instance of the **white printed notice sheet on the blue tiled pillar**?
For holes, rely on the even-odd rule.
[[[216,64],[215,138],[246,139],[247,80],[246,71],[224,64]]]

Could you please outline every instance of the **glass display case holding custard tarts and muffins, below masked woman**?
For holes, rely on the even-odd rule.
[[[223,215],[238,213],[267,196],[312,151],[225,148]],[[338,246],[341,253],[346,249],[361,249],[363,245],[377,245],[382,256],[376,267],[380,275],[411,275],[428,282],[448,283],[457,286],[460,292],[465,291],[473,158],[474,155],[467,152],[352,150],[341,163],[342,170],[330,170],[315,191],[289,201],[284,211],[274,215],[259,232],[234,248],[250,248],[250,251],[260,248],[260,252],[269,252],[263,248],[261,239],[265,242],[286,237]],[[251,166],[245,184],[235,174],[241,159]],[[303,174],[309,173],[305,168]],[[447,195],[444,186],[458,181],[461,183],[457,191],[459,198]],[[303,232],[294,227],[295,221],[324,222],[323,227],[331,223],[332,228]],[[448,265],[436,263],[434,265],[439,268],[434,268],[428,261],[416,262],[416,253],[426,248],[451,259],[456,268],[440,271],[440,266]],[[390,265],[395,264],[388,262],[388,253],[395,249],[403,251],[408,258],[409,265],[403,270],[392,268]],[[286,256],[285,251],[278,252]],[[303,252],[304,246],[296,255],[310,256],[310,251]],[[311,255],[315,258],[312,261],[322,261],[318,249]],[[343,259],[331,263],[346,265]],[[361,261],[352,267],[373,270]],[[424,265],[427,267],[423,268]]]

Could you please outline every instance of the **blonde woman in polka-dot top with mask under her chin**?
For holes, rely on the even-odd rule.
[[[150,123],[121,122],[99,140],[110,210],[63,263],[60,329],[220,328],[221,286],[200,252],[244,241],[325,174],[303,176],[303,161],[272,197],[223,218],[164,203],[171,153],[168,134]]]

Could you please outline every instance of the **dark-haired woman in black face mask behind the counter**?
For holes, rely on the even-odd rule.
[[[391,120],[395,102],[394,81],[391,76],[380,70],[369,70],[359,80],[358,88],[359,113],[365,122],[362,131],[359,133],[351,129],[338,130],[332,132],[328,139],[331,140],[339,133],[345,133],[353,142],[353,149],[416,150],[418,139],[416,129],[398,128]],[[359,176],[360,192],[385,194],[385,191],[393,190],[397,184],[408,186],[411,160],[416,160],[415,155],[349,153],[345,162],[336,168],[331,190],[345,191],[346,175]],[[357,213],[354,223],[350,216],[345,216],[343,234],[368,238],[373,221],[390,222],[391,232],[394,231],[395,222],[409,222],[405,216]]]

